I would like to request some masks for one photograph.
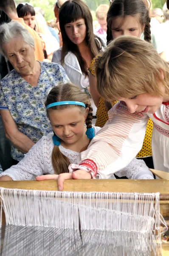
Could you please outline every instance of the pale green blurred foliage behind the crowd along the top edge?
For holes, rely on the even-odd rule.
[[[4,0],[5,1],[5,0]],[[16,5],[18,5],[20,0],[15,0]],[[55,0],[26,0],[26,2],[31,3],[34,7],[40,7],[45,11],[45,20],[54,19],[54,3]],[[85,0],[87,6],[89,6],[90,10],[92,11],[93,20],[96,20],[95,11],[96,8],[100,4],[108,4],[109,0]],[[153,8],[163,8],[165,0],[152,0],[152,7]]]

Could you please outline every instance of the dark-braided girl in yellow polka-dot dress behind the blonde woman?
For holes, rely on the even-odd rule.
[[[133,35],[140,38],[144,32],[144,40],[151,41],[149,10],[141,0],[114,0],[107,13],[107,44],[120,35]],[[95,77],[95,58],[90,64],[90,93],[93,97],[96,112],[96,126],[103,127],[108,120],[107,111],[112,108],[117,101],[105,102],[99,95],[96,88]],[[152,120],[149,119],[146,129],[146,135],[141,151],[137,157],[144,159],[149,168],[153,168],[151,137],[152,137]]]

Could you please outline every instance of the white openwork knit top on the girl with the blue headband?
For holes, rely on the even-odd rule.
[[[95,134],[101,129],[100,127],[93,127]],[[54,148],[52,140],[53,132],[47,136],[43,136],[25,155],[16,166],[11,166],[5,172],[0,174],[8,175],[12,180],[34,180],[36,176],[43,174],[54,174],[54,169],[51,161],[51,154]],[[59,149],[71,163],[77,163],[79,157],[78,152],[71,151],[59,145]],[[152,172],[143,160],[136,158],[121,171],[117,172],[119,177],[127,176],[129,179],[153,179]],[[109,175],[110,178],[115,178],[114,175]],[[107,175],[98,175],[98,178],[108,178]]]

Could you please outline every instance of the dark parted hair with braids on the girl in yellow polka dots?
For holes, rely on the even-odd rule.
[[[149,10],[142,0],[113,0],[107,13],[107,44],[113,40],[112,19],[118,16],[139,15],[140,23],[144,28],[144,40],[151,41]]]

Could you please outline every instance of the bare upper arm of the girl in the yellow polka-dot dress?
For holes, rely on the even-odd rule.
[[[100,96],[100,94],[98,93],[98,90],[97,90],[96,77],[93,76],[91,73],[89,73],[89,87],[90,87],[90,94],[92,96],[94,104],[96,105],[96,107],[98,107],[99,99],[100,99],[101,96]]]

